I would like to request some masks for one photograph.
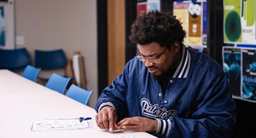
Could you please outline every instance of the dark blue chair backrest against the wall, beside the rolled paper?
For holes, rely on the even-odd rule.
[[[55,69],[67,64],[62,49],[53,51],[35,50],[35,66],[42,69]]]

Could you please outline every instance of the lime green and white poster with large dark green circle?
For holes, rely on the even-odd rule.
[[[256,44],[255,0],[224,0],[224,43]]]

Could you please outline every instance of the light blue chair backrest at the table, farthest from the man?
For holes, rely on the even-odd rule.
[[[41,71],[41,68],[35,68],[30,65],[27,65],[27,67],[24,69],[22,76],[31,80],[31,81],[36,81],[37,75]]]

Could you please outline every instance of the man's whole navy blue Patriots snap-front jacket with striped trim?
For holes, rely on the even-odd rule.
[[[204,53],[183,45],[182,59],[169,78],[165,97],[144,63],[130,60],[95,105],[115,108],[118,121],[141,116],[157,119],[157,137],[230,137],[236,105],[222,67]]]

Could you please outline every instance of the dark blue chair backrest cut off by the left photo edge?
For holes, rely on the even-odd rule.
[[[15,50],[0,49],[0,68],[20,69],[30,63],[29,54],[26,48]]]

